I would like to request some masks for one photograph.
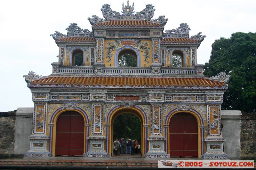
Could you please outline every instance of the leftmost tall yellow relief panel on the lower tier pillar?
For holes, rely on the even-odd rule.
[[[34,106],[33,134],[45,134],[46,104],[37,103]]]

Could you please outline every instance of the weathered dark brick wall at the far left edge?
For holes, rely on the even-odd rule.
[[[15,113],[0,112],[0,155],[14,154],[14,125]]]

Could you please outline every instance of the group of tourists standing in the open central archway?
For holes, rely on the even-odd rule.
[[[116,140],[113,142],[113,153],[115,155],[119,154],[140,154],[140,144],[137,140],[131,140],[127,138],[125,141],[124,138],[116,138]]]

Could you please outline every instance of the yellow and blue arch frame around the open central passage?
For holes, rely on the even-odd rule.
[[[113,124],[115,121],[115,118],[118,115],[121,114],[133,114],[136,115],[141,122],[141,142],[140,142],[140,156],[142,156],[143,154],[145,154],[146,151],[146,147],[145,147],[145,128],[143,127],[143,124],[146,124],[146,119],[145,116],[143,115],[143,113],[140,112],[140,110],[138,110],[137,108],[118,108],[116,110],[114,110],[110,116],[109,116],[109,123],[110,123],[110,127],[109,127],[109,135],[108,135],[108,153],[110,153],[111,156],[113,156]],[[138,155],[137,155],[138,156]]]

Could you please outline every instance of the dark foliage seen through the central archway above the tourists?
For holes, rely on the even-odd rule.
[[[122,137],[141,141],[141,122],[138,116],[125,113],[114,120],[113,141]]]

